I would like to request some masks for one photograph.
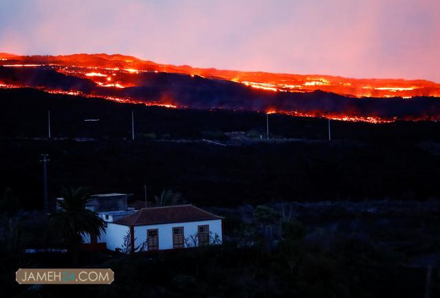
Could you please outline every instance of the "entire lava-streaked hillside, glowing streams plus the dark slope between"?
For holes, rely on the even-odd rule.
[[[228,108],[383,123],[437,120],[440,84],[160,65],[131,56],[0,54],[0,88],[172,108]]]

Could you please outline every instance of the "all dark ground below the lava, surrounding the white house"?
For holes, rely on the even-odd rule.
[[[0,95],[0,190],[13,190],[0,204],[2,296],[440,295],[439,123],[331,122],[329,142],[325,119],[270,115],[266,142],[261,113],[116,104],[31,89]],[[73,264],[72,250],[23,252],[68,244],[41,211],[42,153],[50,154],[52,199],[69,186],[138,200],[144,185],[148,200],[172,188],[225,216],[225,242],[154,255],[83,251],[78,266],[112,268],[111,286],[19,286],[19,267]]]

